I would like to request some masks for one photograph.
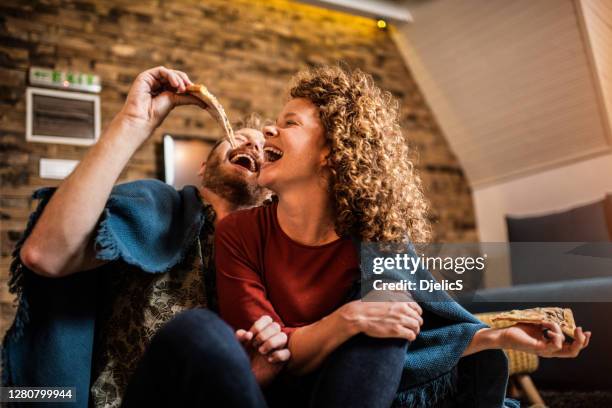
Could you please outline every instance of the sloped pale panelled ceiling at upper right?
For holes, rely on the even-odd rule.
[[[612,2],[408,5],[395,39],[473,186],[610,151]]]

